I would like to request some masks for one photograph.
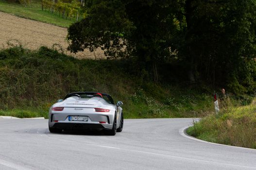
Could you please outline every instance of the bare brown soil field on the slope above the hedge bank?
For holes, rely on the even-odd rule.
[[[53,44],[59,44],[64,53],[79,59],[106,58],[101,49],[94,52],[85,49],[85,51],[76,54],[70,53],[67,51],[67,34],[67,28],[0,12],[0,49],[8,48],[10,46],[8,44],[18,43],[31,50],[36,50],[41,46],[52,48]],[[60,47],[55,47],[60,49]]]

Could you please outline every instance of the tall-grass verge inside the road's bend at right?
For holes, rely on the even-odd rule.
[[[256,149],[256,104],[229,105],[194,123],[187,133],[209,142]]]

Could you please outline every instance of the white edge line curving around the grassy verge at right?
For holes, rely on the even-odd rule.
[[[196,137],[193,137],[193,136],[190,136],[186,133],[186,130],[191,127],[192,125],[190,126],[186,126],[186,127],[183,127],[183,128],[180,128],[179,129],[179,134],[181,136],[184,136],[184,137],[187,137],[189,139],[193,139],[193,140],[197,140],[197,141],[200,141],[200,142],[204,142],[204,143],[209,143],[209,144],[214,144],[214,145],[219,145],[219,146],[226,146],[226,147],[232,147],[232,148],[240,148],[240,149],[246,149],[246,150],[252,150],[252,151],[256,151],[256,149],[252,149],[252,148],[244,148],[244,147],[239,147],[239,146],[231,146],[231,145],[224,145],[224,144],[220,144],[220,143],[213,143],[213,142],[208,142],[208,141],[205,141],[205,140],[201,140],[201,139],[198,139]]]

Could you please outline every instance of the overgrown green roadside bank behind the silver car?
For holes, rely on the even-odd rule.
[[[111,94],[115,102],[124,102],[125,118],[194,117],[213,111],[208,88],[185,88],[170,73],[156,84],[132,62],[78,60],[46,47],[1,50],[0,115],[47,118],[51,104],[74,91]]]

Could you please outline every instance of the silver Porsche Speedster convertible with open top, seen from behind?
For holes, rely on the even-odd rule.
[[[123,129],[122,102],[113,101],[106,93],[69,93],[64,100],[58,100],[49,110],[49,130],[61,133],[68,129],[107,130],[116,135]]]

